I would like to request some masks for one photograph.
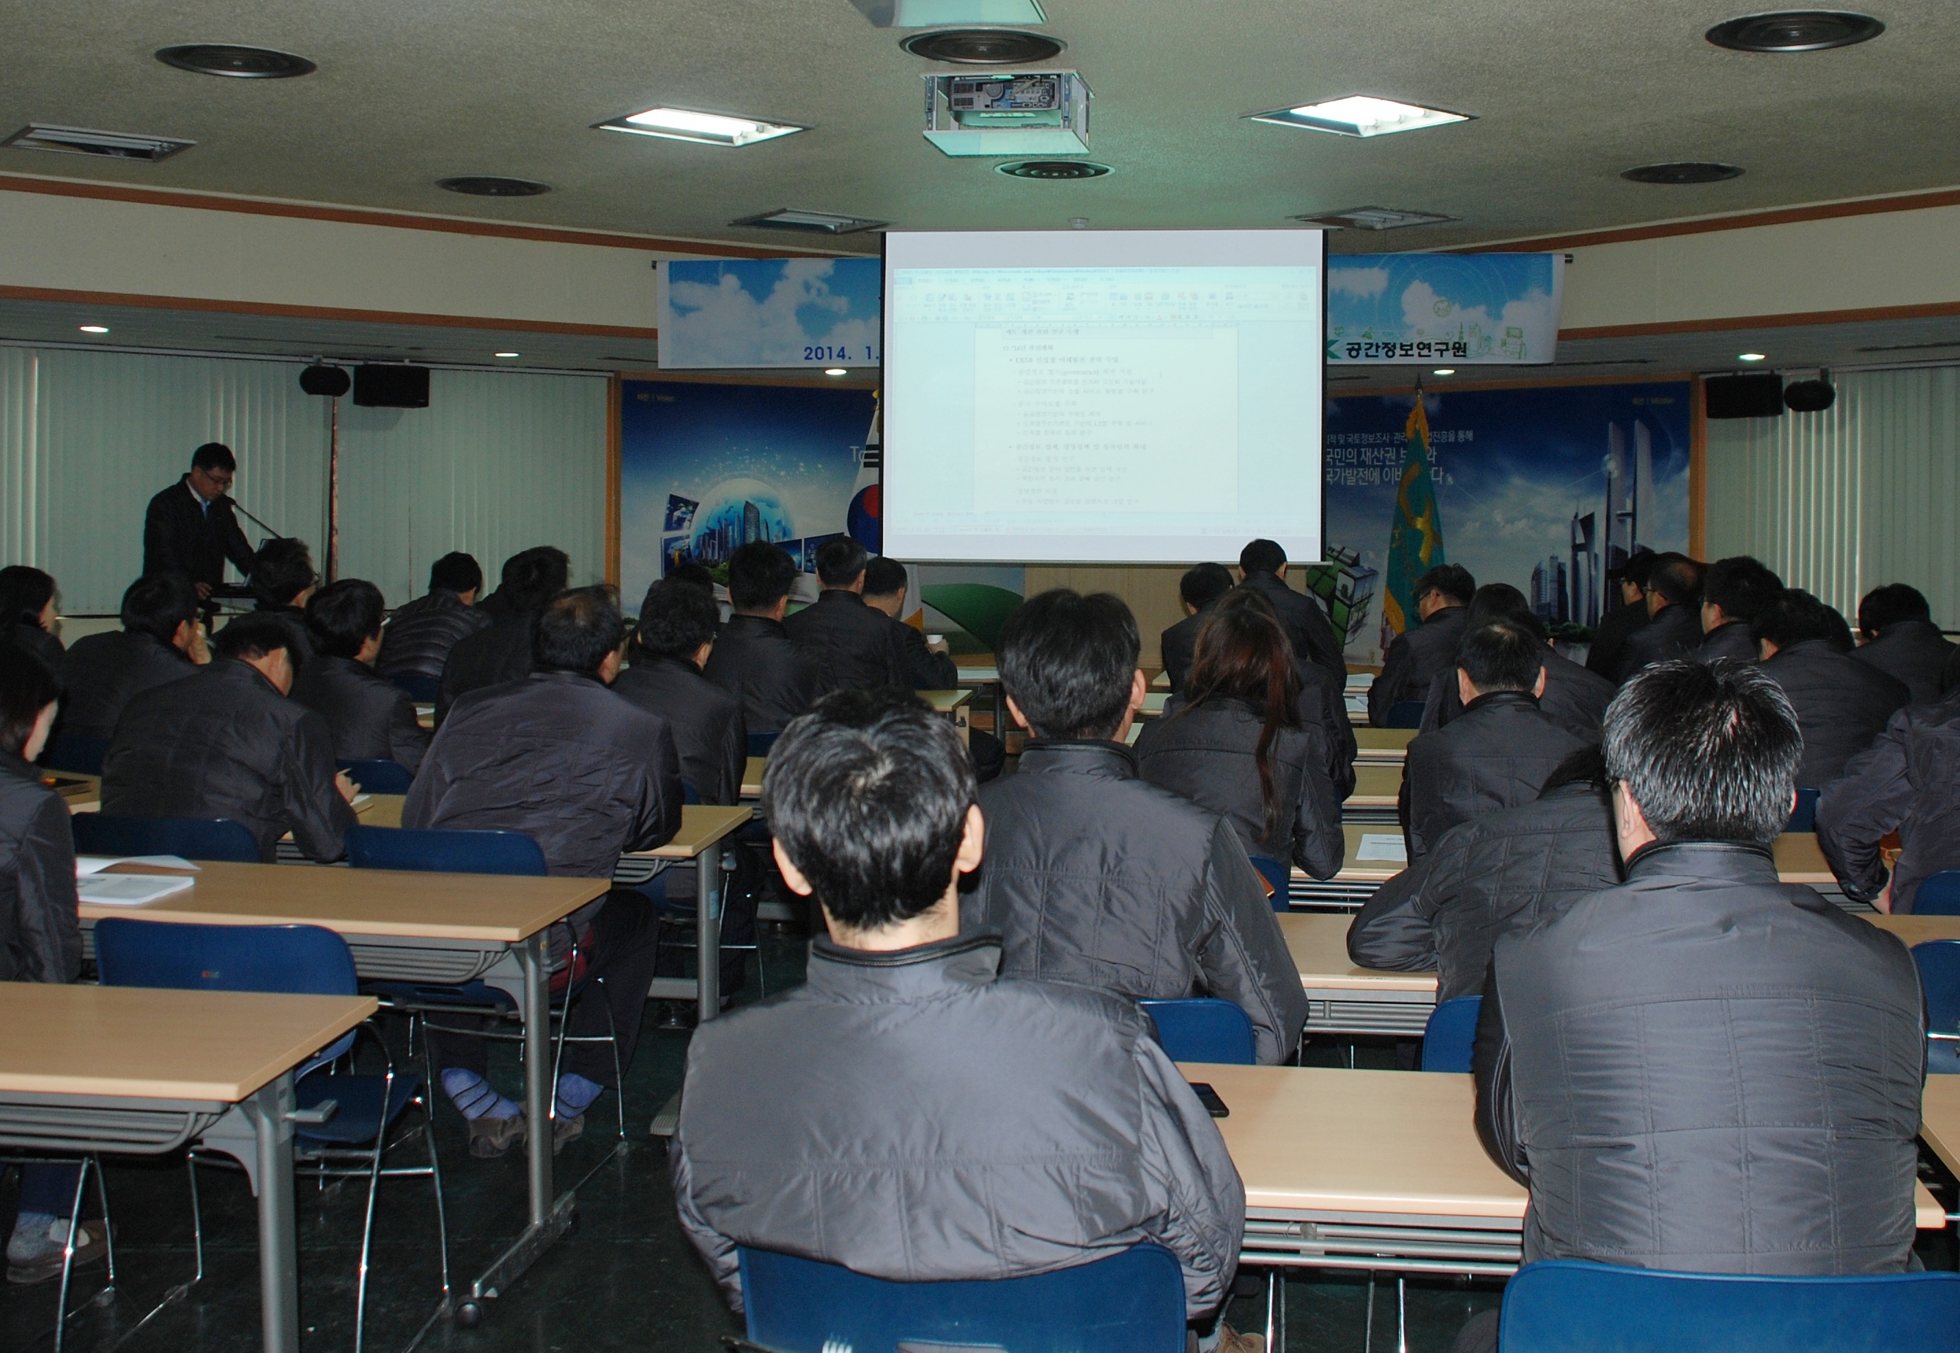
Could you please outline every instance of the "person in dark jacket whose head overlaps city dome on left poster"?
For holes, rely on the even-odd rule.
[[[702,675],[741,700],[751,733],[780,733],[831,688],[829,669],[782,627],[796,563],[780,545],[749,541],[729,555],[729,606]]]

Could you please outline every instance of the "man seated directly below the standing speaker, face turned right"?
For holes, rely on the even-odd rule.
[[[61,731],[110,737],[123,706],[151,686],[196,675],[212,661],[198,624],[198,592],[180,573],[137,578],[123,592],[122,629],[76,639],[61,659]]]

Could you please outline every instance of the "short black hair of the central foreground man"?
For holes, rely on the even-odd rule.
[[[923,700],[839,690],[782,729],[762,818],[825,912],[878,929],[947,894],[974,788],[958,733]]]

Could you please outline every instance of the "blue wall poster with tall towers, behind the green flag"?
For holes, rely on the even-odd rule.
[[[1347,653],[1380,663],[1380,600],[1413,394],[1327,402],[1327,557]],[[1605,571],[1635,549],[1688,549],[1690,384],[1427,390],[1441,559],[1509,582],[1546,626],[1592,627]],[[1572,633],[1572,631],[1568,631]]]

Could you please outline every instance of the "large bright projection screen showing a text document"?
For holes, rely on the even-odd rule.
[[[1319,559],[1319,231],[894,231],[884,308],[886,553]]]

